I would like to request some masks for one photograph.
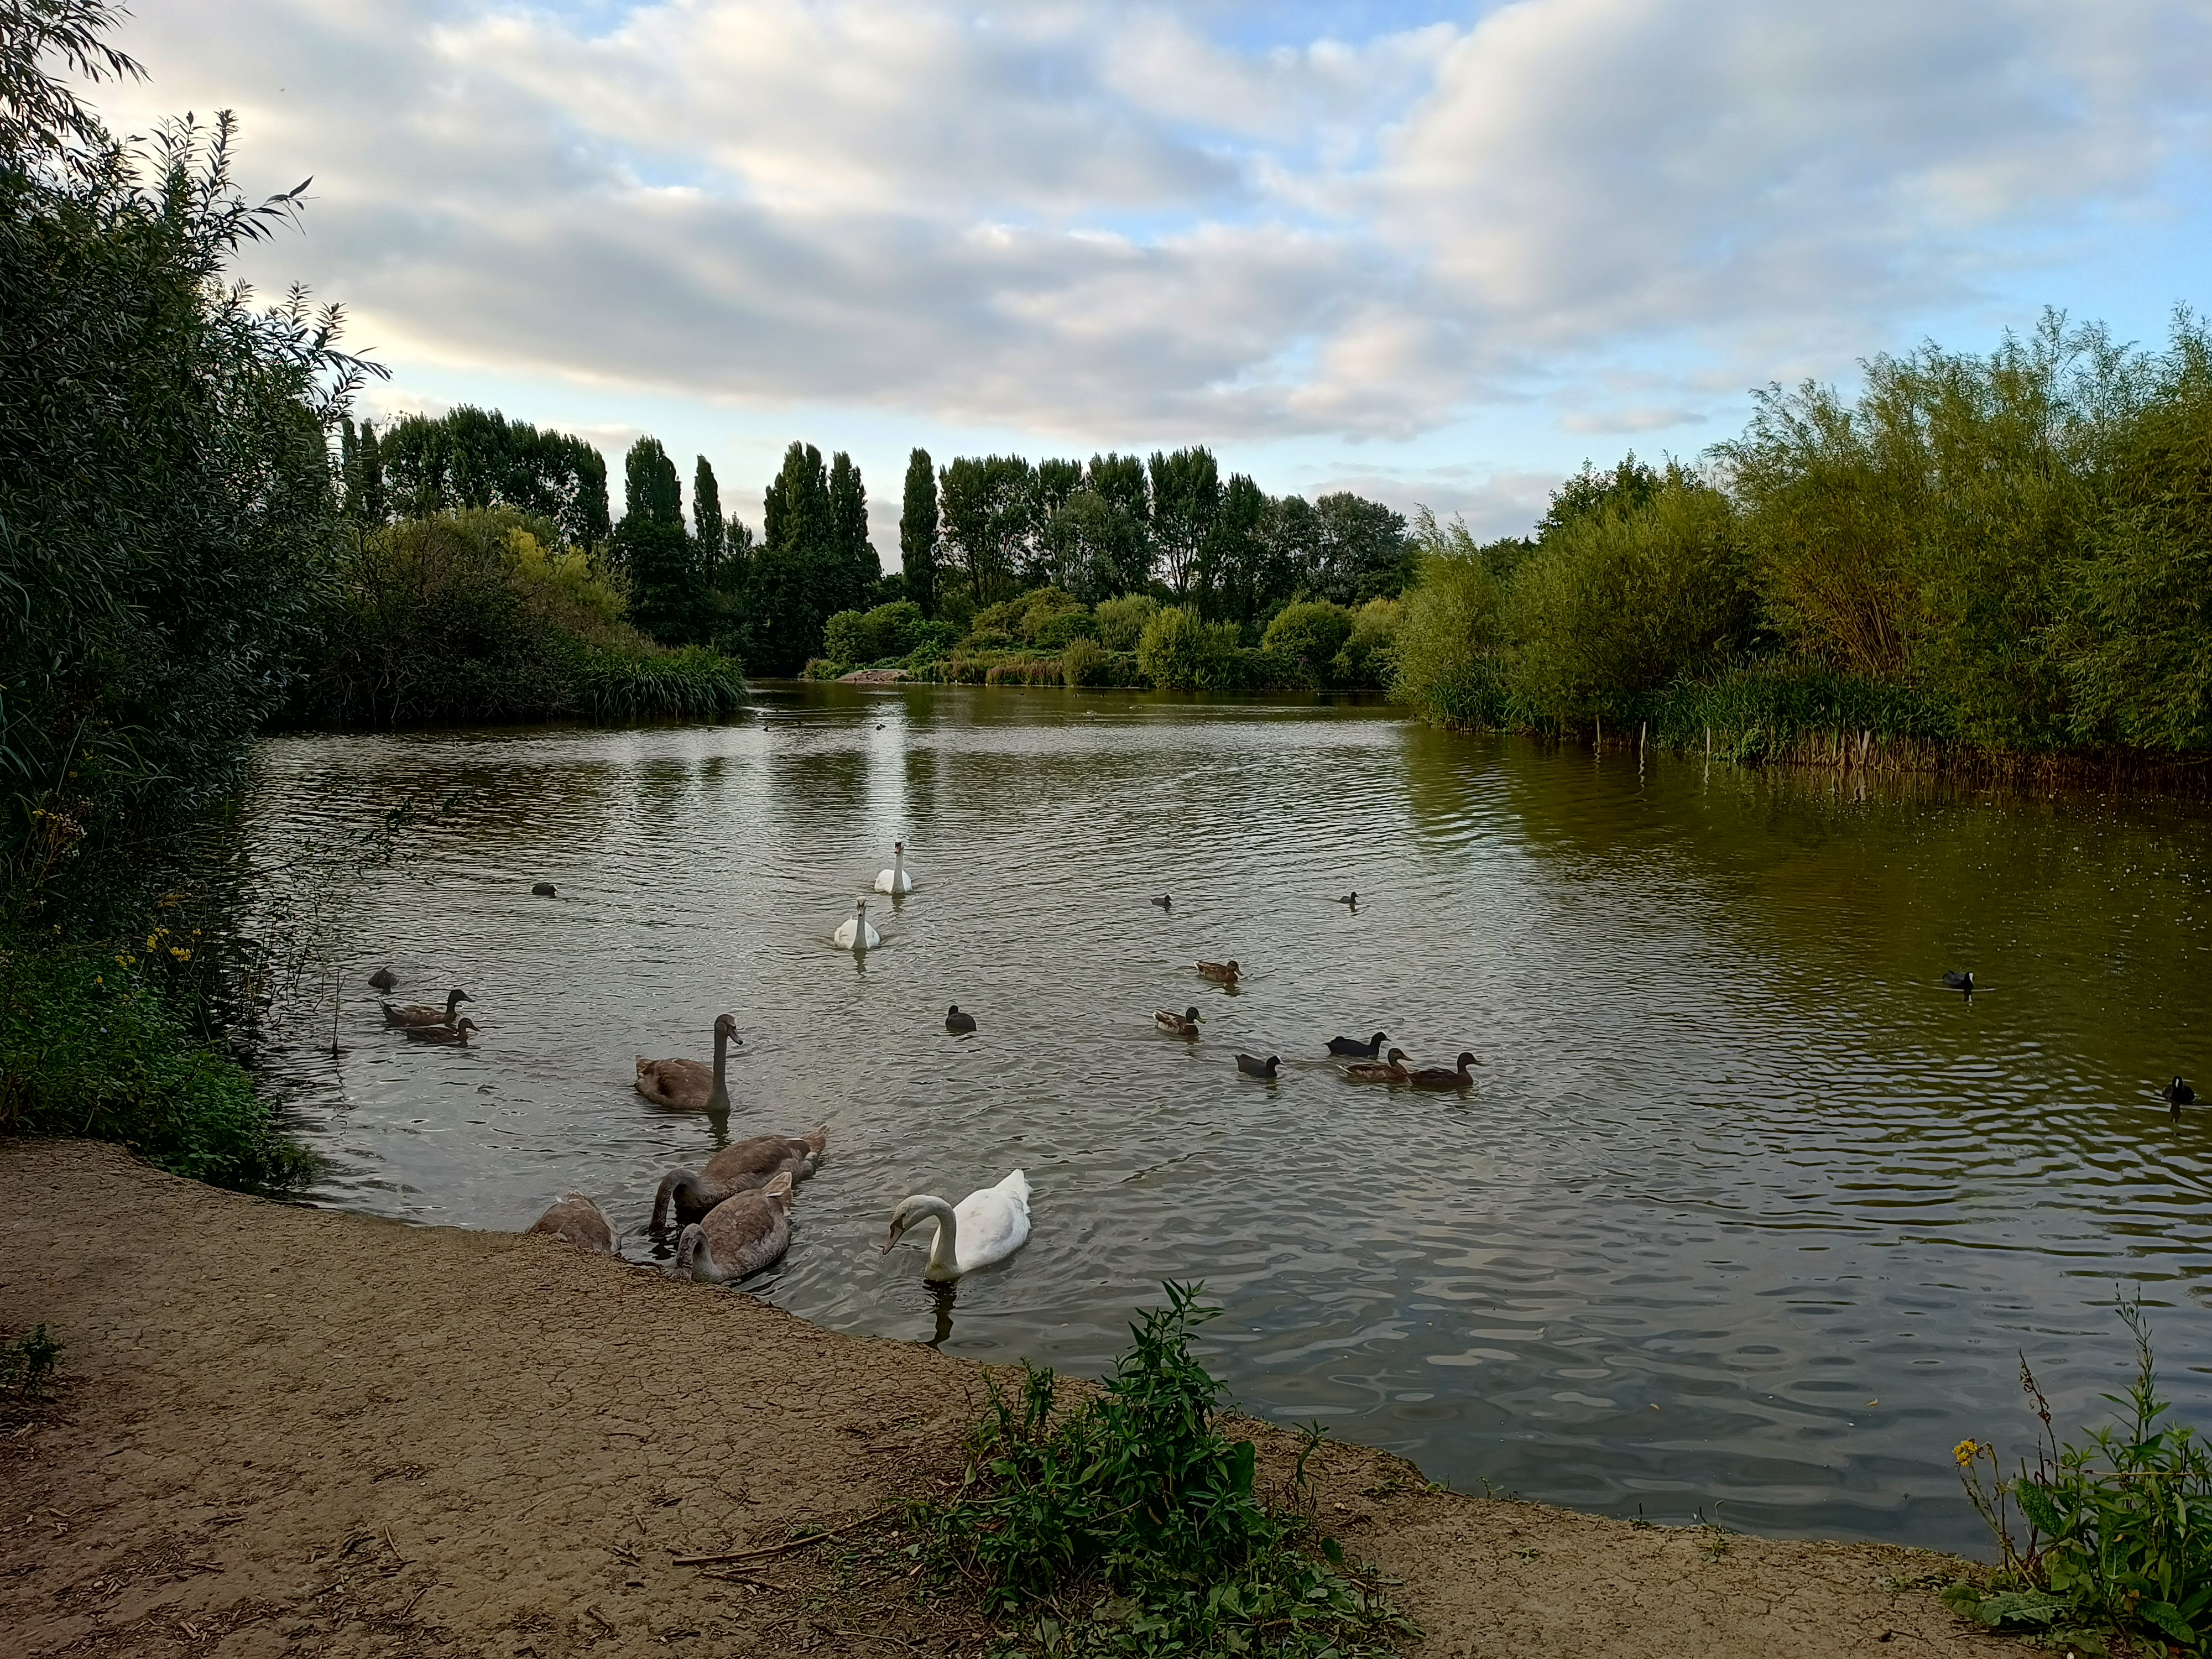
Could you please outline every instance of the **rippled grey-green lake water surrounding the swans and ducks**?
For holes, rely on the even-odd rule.
[[[1203,1279],[1250,1409],[1453,1484],[1953,1548],[1949,1449],[2026,1447],[2015,1352],[2062,1422],[2124,1378],[2115,1285],[2212,1416],[2212,1113],[2150,1095],[2212,1082],[2199,810],[1639,774],[1383,708],[810,688],[723,728],[279,739],[252,823],[279,858],[449,792],[361,894],[347,982],[465,984],[487,1031],[414,1046],[349,993],[336,1068],[292,1062],[319,1201],[522,1228],[577,1186],[650,1261],[655,1179],[712,1139],[633,1055],[706,1057],[728,1009],[730,1133],[832,1128],[752,1287],[838,1329],[1095,1374]],[[920,887],[858,962],[830,931],[896,836]],[[1203,1042],[1152,1029],[1190,1002]],[[1323,1040],[1376,1026],[1473,1048],[1475,1088],[1347,1084]],[[1015,1166],[1033,1241],[949,1307],[918,1243],[876,1254],[898,1197]]]

